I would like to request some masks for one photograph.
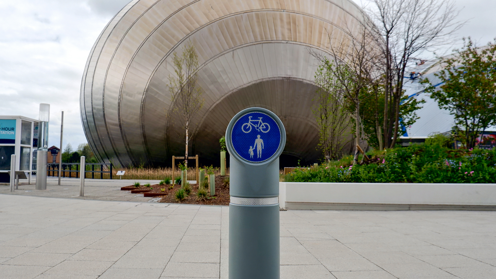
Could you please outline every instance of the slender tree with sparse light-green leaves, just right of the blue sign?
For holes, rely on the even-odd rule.
[[[338,83],[331,74],[331,62],[323,58],[315,73],[316,91],[313,114],[317,120],[319,144],[324,154],[324,160],[337,159],[344,147],[345,134],[351,126],[350,114],[345,100],[338,93]]]

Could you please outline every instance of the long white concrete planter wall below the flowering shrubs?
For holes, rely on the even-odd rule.
[[[496,210],[496,184],[280,182],[287,209]]]

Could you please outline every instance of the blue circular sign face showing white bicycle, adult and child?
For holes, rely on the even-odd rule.
[[[252,163],[270,159],[281,146],[281,138],[281,129],[275,120],[256,111],[238,118],[231,130],[234,151]]]

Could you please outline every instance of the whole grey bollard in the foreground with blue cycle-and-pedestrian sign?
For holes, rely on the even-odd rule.
[[[229,123],[229,279],[279,279],[279,155],[286,143],[281,120],[248,108]],[[256,154],[256,155],[255,155]]]

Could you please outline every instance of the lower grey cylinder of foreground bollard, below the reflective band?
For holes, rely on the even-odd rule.
[[[229,204],[229,279],[279,279],[279,204]]]

